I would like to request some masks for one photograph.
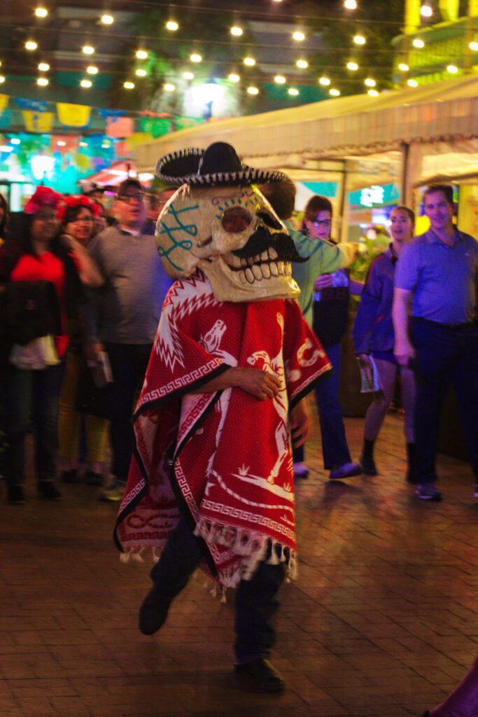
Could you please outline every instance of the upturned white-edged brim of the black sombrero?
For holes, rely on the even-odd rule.
[[[245,164],[236,171],[199,174],[204,149],[190,147],[162,157],[156,164],[156,176],[171,184],[197,186],[226,186],[228,184],[251,184],[252,182],[282,181],[287,176],[280,171],[254,169]]]

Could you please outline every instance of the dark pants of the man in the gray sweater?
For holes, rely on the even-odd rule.
[[[105,343],[113,373],[110,417],[112,471],[120,485],[125,485],[128,480],[133,446],[133,401],[143,385],[152,348],[150,343]]]

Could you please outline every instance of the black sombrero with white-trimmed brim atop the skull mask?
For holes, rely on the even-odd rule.
[[[207,149],[189,147],[167,154],[156,164],[156,176],[171,184],[199,186],[251,184],[287,179],[283,172],[253,169],[242,164],[234,147],[226,142],[214,142]]]

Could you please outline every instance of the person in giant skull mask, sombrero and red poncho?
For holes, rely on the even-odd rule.
[[[126,561],[163,548],[141,632],[161,628],[201,565],[237,588],[239,679],[280,691],[268,658],[277,592],[297,564],[290,435],[307,438],[302,399],[330,364],[295,301],[300,257],[253,184],[285,175],[243,166],[226,143],[166,156],[157,174],[182,184],[156,227],[176,282],[134,415],[115,538]]]

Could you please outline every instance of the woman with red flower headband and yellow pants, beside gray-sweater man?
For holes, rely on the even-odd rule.
[[[60,236],[70,247],[80,272],[80,278],[89,286],[101,283],[101,277],[86,247],[95,235],[96,219],[100,206],[87,196],[67,196],[59,207],[57,217],[62,222]],[[66,356],[62,391],[59,397],[59,457],[62,461],[61,478],[64,483],[78,480],[78,445],[81,430],[81,414],[76,410],[76,399],[83,366],[82,336],[72,336]],[[85,413],[85,440],[88,470],[85,482],[89,485],[102,483],[102,467],[107,437],[107,420]]]

